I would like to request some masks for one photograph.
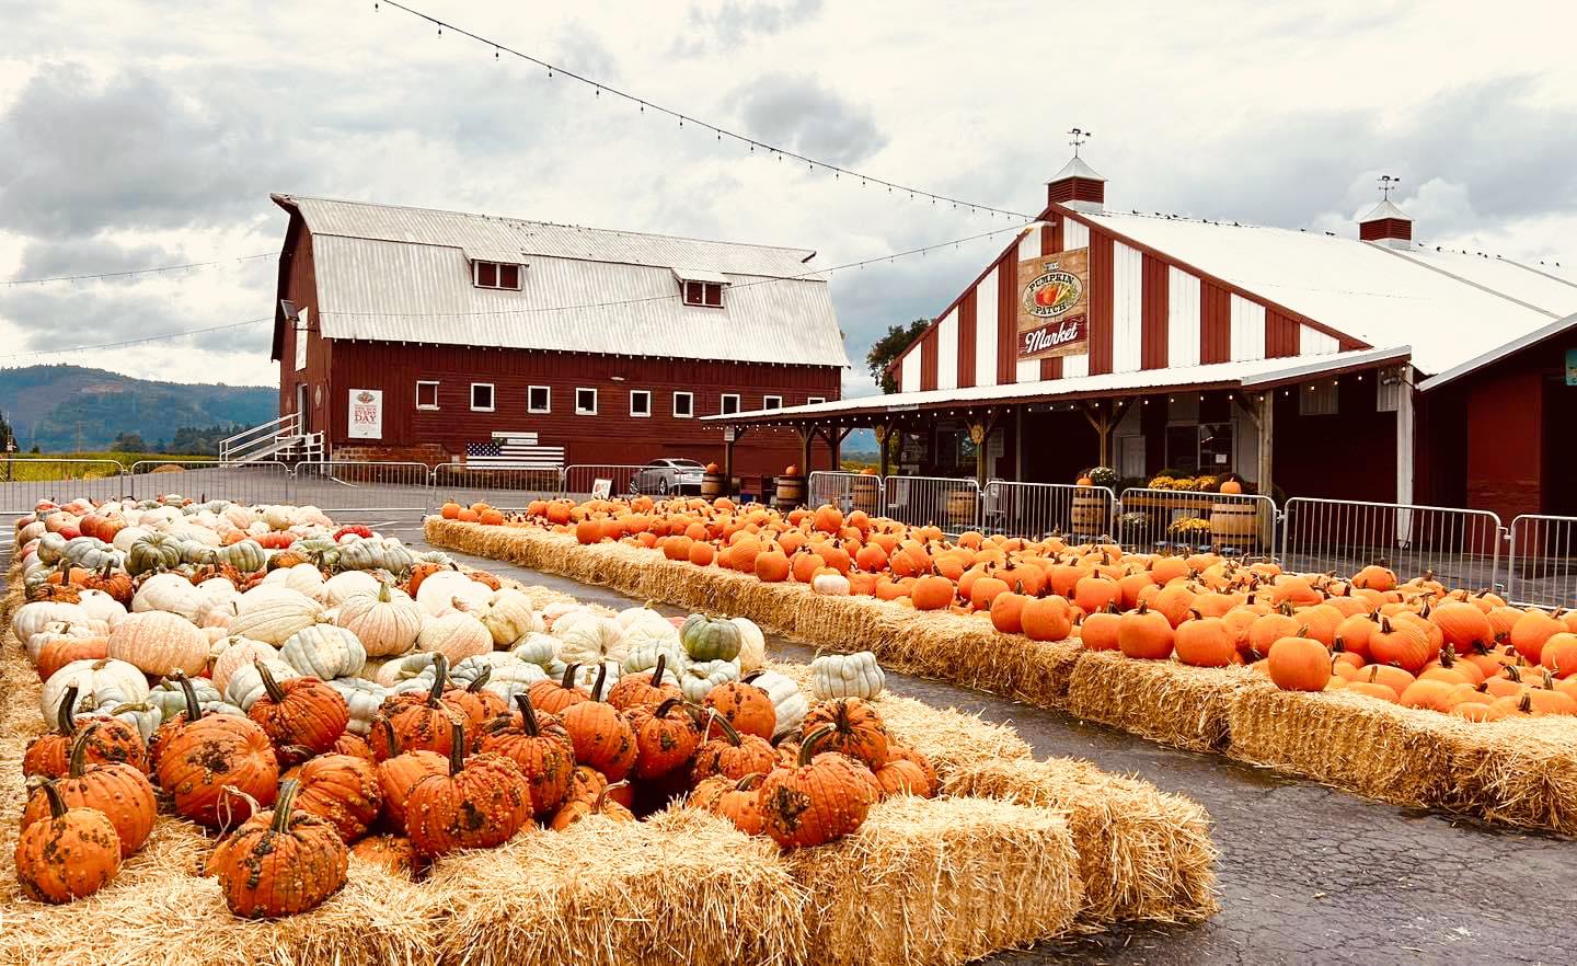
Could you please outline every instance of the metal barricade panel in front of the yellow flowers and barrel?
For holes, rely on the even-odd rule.
[[[1112,529],[1120,545],[1135,551],[1269,557],[1276,552],[1276,504],[1236,492],[1124,489]]]

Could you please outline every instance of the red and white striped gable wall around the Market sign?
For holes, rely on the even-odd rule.
[[[1020,361],[1019,262],[1087,246],[1090,350]],[[1369,347],[1053,202],[893,366],[908,393]]]

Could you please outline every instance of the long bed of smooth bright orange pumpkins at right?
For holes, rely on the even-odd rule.
[[[1577,713],[1577,612],[1489,592],[1284,573],[1217,554],[1126,552],[908,527],[836,507],[777,513],[727,499],[539,500],[524,513],[448,504],[443,515],[620,541],[670,560],[989,619],[1035,641],[1195,666],[1251,665],[1284,690],[1347,690],[1468,721]]]

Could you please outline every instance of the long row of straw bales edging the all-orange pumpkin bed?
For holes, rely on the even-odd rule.
[[[647,579],[656,590],[651,597],[718,609],[727,608],[713,600],[727,601],[735,608],[730,612],[820,650],[872,650],[897,671],[1066,709],[1178,748],[1222,753],[1397,805],[1577,833],[1577,720],[1479,724],[1356,695],[1284,693],[1244,669],[1091,653],[1072,641],[1047,644],[997,633],[978,617],[817,597],[800,584],[760,584],[716,567],[670,562],[658,551],[579,546],[541,530],[434,519],[427,540],[459,549],[500,540],[484,530],[509,534],[503,540],[511,545],[557,545],[554,552],[571,557],[618,552],[643,560],[653,571]],[[486,556],[519,559],[511,554]],[[530,557],[531,567],[565,573],[554,568],[546,549]],[[741,589],[741,582],[768,590]]]

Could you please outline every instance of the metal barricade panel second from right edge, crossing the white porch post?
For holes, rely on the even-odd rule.
[[[1422,573],[1449,587],[1493,587],[1500,570],[1500,518],[1487,510],[1287,500],[1282,565],[1350,575],[1369,564],[1402,579]]]

